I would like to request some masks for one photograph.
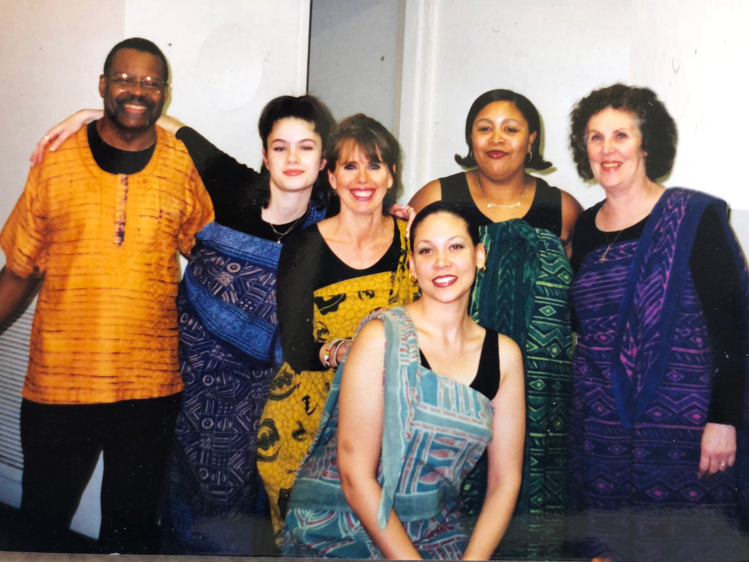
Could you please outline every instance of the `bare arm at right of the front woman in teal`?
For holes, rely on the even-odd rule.
[[[487,492],[464,560],[488,560],[497,549],[520,490],[525,442],[523,354],[507,336],[500,334],[499,344],[500,389],[492,400],[494,423],[487,447]]]

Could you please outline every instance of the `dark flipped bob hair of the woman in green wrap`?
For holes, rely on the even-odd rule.
[[[470,106],[466,117],[465,134],[468,154],[464,157],[460,154],[455,154],[455,162],[464,168],[475,168],[477,166],[476,159],[473,157],[473,142],[471,142],[473,121],[476,121],[476,115],[479,115],[482,109],[495,101],[509,101],[514,103],[515,107],[518,108],[518,111],[523,114],[523,117],[528,122],[528,133],[536,133],[536,139],[530,147],[532,154],[530,160],[526,157],[525,167],[534,170],[551,168],[551,162],[544,160],[541,154],[541,118],[539,117],[539,110],[536,109],[533,103],[530,103],[527,97],[512,90],[489,90],[476,98],[476,101]]]

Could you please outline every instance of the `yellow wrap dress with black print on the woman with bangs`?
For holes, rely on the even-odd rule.
[[[405,228],[400,221],[398,227],[404,251],[396,271],[354,277],[314,291],[316,342],[353,337],[372,310],[413,300],[418,288],[409,277]],[[284,363],[270,383],[258,432],[258,471],[276,533],[283,525],[297,470],[318,431],[334,375],[333,369],[295,372]]]

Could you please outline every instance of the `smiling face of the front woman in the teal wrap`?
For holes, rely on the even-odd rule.
[[[410,268],[422,297],[449,303],[470,294],[476,268],[486,261],[483,244],[473,245],[462,217],[437,211],[416,227]]]

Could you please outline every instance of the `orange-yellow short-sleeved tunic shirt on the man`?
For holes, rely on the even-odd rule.
[[[177,250],[213,220],[187,148],[157,127],[141,172],[97,166],[86,127],[34,166],[0,233],[7,268],[43,274],[23,397],[89,404],[182,390]]]

